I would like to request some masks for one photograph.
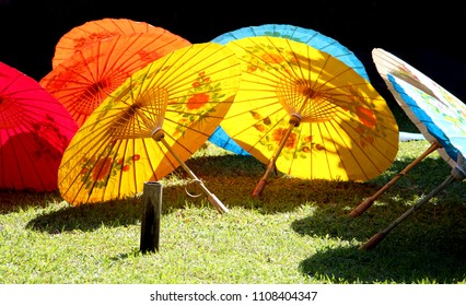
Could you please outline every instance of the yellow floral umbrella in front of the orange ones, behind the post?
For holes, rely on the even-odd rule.
[[[235,55],[214,43],[175,50],[137,71],[92,113],[66,150],[58,172],[63,199],[81,204],[131,197],[179,165],[203,187],[184,161],[222,120],[240,80]]]

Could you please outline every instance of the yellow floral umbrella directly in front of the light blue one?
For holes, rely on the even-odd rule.
[[[267,164],[299,178],[368,180],[392,165],[398,126],[356,70],[307,44],[257,36],[226,44],[243,76],[221,127]]]

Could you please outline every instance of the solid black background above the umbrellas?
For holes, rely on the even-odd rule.
[[[466,10],[461,1],[155,1],[0,0],[0,61],[39,80],[51,69],[55,45],[72,27],[125,17],[160,26],[190,43],[266,23],[312,28],[349,48],[372,84],[392,95],[371,51],[383,48],[466,101]]]

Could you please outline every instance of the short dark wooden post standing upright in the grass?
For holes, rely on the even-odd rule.
[[[142,252],[159,250],[160,215],[162,213],[162,184],[159,181],[144,183],[141,222]]]

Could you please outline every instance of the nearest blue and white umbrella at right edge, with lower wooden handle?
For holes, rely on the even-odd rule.
[[[407,66],[405,66],[406,68]],[[419,71],[407,69],[386,73],[388,89],[398,104],[431,143],[452,166],[448,177],[396,219],[388,227],[375,234],[361,248],[375,247],[395,226],[421,204],[428,202],[452,181],[466,178],[466,106],[443,87]]]

